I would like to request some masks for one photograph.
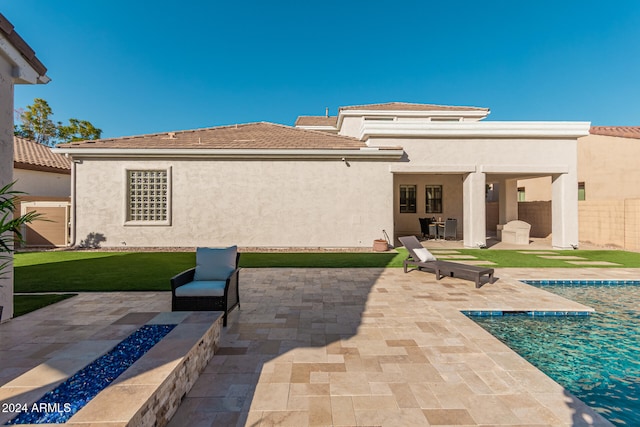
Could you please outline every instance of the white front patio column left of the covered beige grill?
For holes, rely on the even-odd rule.
[[[483,172],[471,172],[462,183],[464,245],[469,248],[487,243],[485,184]]]

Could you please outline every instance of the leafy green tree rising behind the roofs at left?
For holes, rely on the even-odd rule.
[[[39,144],[56,145],[62,142],[99,139],[102,130],[87,120],[69,119],[68,125],[51,120],[53,111],[47,101],[33,100],[25,110],[16,110],[19,125],[14,126],[14,135],[30,139]]]

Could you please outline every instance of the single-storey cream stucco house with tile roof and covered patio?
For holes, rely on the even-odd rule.
[[[392,102],[298,118],[58,146],[72,159],[72,244],[371,247],[458,220],[486,242],[485,195],[517,219],[516,182],[548,176],[553,245],[578,241],[576,140],[583,122],[491,122],[486,108]],[[428,199],[428,200],[427,200]],[[402,203],[401,203],[402,201]],[[77,243],[77,242],[75,242]]]

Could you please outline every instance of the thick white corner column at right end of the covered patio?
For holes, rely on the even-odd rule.
[[[578,244],[578,179],[575,172],[554,175],[551,183],[551,245]]]

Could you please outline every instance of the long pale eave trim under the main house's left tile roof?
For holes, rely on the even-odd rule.
[[[162,148],[54,148],[54,153],[73,158],[198,158],[198,159],[312,159],[312,160],[399,160],[404,155],[400,147],[363,147],[357,150],[224,150],[224,149],[162,149]]]

